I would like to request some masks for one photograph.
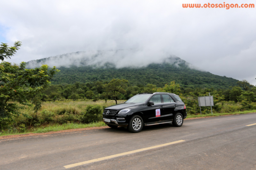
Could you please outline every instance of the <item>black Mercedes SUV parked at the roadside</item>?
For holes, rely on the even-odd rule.
[[[104,109],[103,121],[112,128],[128,127],[140,132],[143,126],[171,123],[180,127],[187,117],[186,106],[174,93],[139,93],[122,104]]]

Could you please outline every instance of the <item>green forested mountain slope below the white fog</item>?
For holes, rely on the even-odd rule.
[[[96,80],[111,80],[113,78],[127,79],[133,85],[146,85],[152,83],[158,87],[175,81],[183,87],[191,88],[228,88],[236,86],[238,80],[217,76],[209,72],[202,72],[188,67],[176,67],[174,65],[150,64],[142,68],[94,68],[83,67],[60,67],[60,73],[53,78],[53,84],[91,82]]]

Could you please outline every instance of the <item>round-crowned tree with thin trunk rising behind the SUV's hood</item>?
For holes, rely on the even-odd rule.
[[[105,84],[105,91],[117,104],[117,98],[126,94],[125,88],[127,88],[128,83],[128,80],[125,79],[112,79],[108,84]]]

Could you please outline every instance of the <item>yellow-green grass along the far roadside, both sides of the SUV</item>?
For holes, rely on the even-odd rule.
[[[119,100],[117,103],[124,103],[124,100]],[[15,118],[17,122],[16,127],[9,128],[7,130],[0,131],[0,136],[2,135],[12,135],[12,134],[24,134],[24,133],[45,133],[51,131],[58,131],[58,130],[66,130],[66,129],[76,129],[76,128],[86,128],[86,127],[100,127],[105,126],[102,121],[83,124],[77,123],[77,121],[62,121],[64,117],[72,116],[73,120],[79,119],[83,112],[85,111],[88,105],[100,105],[103,108],[108,107],[111,105],[115,105],[115,101],[108,100],[106,103],[103,100],[97,102],[91,101],[55,101],[55,102],[44,102],[42,104],[42,109],[38,112],[38,120],[39,123],[35,124],[34,126],[29,126],[25,124],[28,122],[28,118],[23,116],[19,116]],[[33,107],[26,107],[22,110],[23,113],[28,114],[31,117],[35,117],[35,112],[33,111]],[[213,113],[210,114],[195,114],[189,115],[187,118],[197,118],[197,117],[212,117],[212,116],[219,116],[219,115],[228,115],[228,114],[246,114],[256,112],[256,110],[250,111],[237,111],[237,112],[229,112],[229,113]],[[50,119],[51,118],[51,119]],[[31,120],[32,122],[32,120]],[[19,123],[19,124],[18,124]]]

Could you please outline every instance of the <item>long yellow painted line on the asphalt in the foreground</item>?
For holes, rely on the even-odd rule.
[[[151,146],[151,147],[148,147],[148,148],[142,148],[142,149],[137,149],[137,150],[134,150],[134,151],[129,151],[129,152],[119,153],[119,154],[115,154],[115,155],[105,156],[105,157],[102,157],[102,158],[91,159],[91,160],[83,161],[83,162],[80,162],[80,163],[66,165],[64,167],[66,169],[67,168],[73,168],[73,167],[77,167],[77,166],[80,166],[80,165],[94,163],[94,162],[97,162],[97,161],[101,161],[101,160],[105,160],[105,159],[110,159],[110,158],[115,158],[115,157],[118,157],[118,156],[129,155],[129,154],[133,154],[133,153],[137,153],[137,152],[141,152],[141,151],[146,151],[146,150],[150,150],[150,149],[160,148],[162,146],[168,146],[168,145],[171,145],[171,144],[180,143],[180,142],[184,142],[184,141],[185,140],[178,140],[178,141],[175,141],[175,142],[160,144],[160,145]]]

